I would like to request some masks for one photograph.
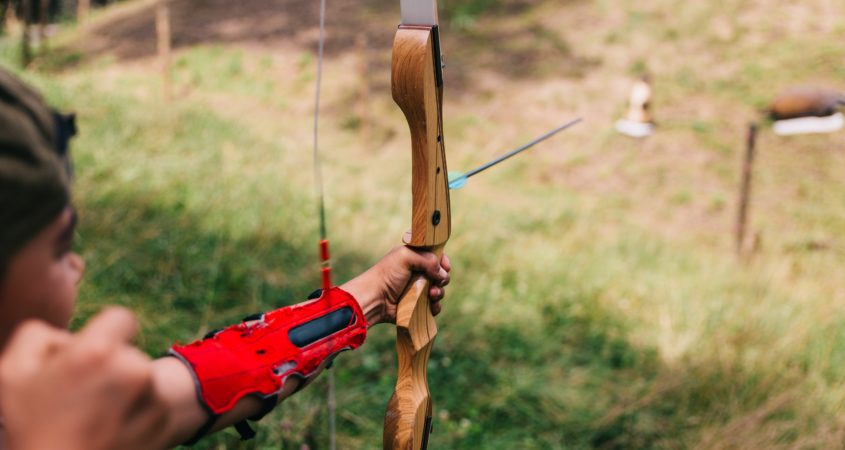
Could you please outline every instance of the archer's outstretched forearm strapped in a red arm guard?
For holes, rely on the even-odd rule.
[[[174,346],[155,361],[158,393],[171,408],[172,444],[261,417],[313,380],[344,350],[358,348],[367,321],[342,289]],[[372,309],[369,302],[363,306]],[[240,429],[239,429],[240,431]]]

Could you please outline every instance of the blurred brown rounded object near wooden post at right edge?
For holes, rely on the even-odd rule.
[[[769,107],[773,120],[824,117],[845,106],[845,94],[814,86],[794,86],[778,94]]]

